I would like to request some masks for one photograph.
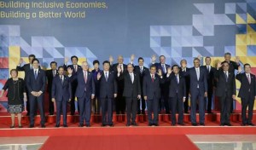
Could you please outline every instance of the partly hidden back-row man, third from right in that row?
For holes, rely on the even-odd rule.
[[[187,74],[189,72],[189,68],[187,67],[187,61],[182,60],[180,61],[180,74]],[[184,76],[185,81],[186,81],[186,100],[184,101],[184,113],[189,113],[189,87],[190,87],[190,77],[189,75]]]

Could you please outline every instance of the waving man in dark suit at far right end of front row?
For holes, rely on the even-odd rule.
[[[244,64],[244,71],[241,73],[241,66],[238,67],[236,79],[241,82],[238,97],[241,97],[241,120],[242,126],[246,124],[254,126],[253,120],[253,106],[256,100],[256,81],[255,75],[251,73],[251,65]],[[247,118],[248,107],[248,118]]]

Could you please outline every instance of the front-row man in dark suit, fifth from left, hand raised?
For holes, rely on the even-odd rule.
[[[98,72],[97,82],[100,84],[99,98],[102,104],[102,126],[113,126],[113,99],[118,93],[116,73],[110,72],[109,61],[103,62],[103,72]],[[107,118],[108,114],[108,118]]]

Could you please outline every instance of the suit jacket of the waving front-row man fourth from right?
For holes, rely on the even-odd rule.
[[[175,97],[177,94],[177,97],[179,99],[183,99],[183,97],[186,97],[186,81],[185,78],[179,74],[179,83],[177,84],[177,77],[174,73],[172,73],[168,78],[166,78],[166,81],[169,81],[169,97]]]

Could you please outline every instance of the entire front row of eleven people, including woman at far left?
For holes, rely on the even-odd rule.
[[[229,72],[229,63],[224,61],[218,63],[217,72],[214,77],[217,82],[216,95],[221,103],[221,120],[220,125],[230,126],[230,106],[231,100],[236,98],[236,81],[235,78],[241,82],[239,97],[242,100],[242,124],[241,125],[254,125],[253,119],[253,103],[256,98],[256,83],[255,76],[251,73],[251,66],[244,65],[245,72],[241,73],[241,67],[238,72]],[[3,91],[0,97],[3,96],[5,90],[8,89],[9,106],[8,111],[11,113],[12,124],[11,128],[15,127],[15,113],[17,113],[19,127],[21,125],[21,113],[24,111],[23,100],[26,101],[26,88],[30,95],[30,128],[34,127],[34,113],[35,106],[38,104],[41,127],[45,127],[44,118],[44,88],[45,88],[45,72],[39,67],[38,59],[32,60],[32,70],[26,76],[24,81],[18,78],[18,72],[15,69],[10,71],[11,78],[8,79],[3,86]],[[102,126],[113,126],[113,100],[117,96],[119,80],[125,81],[125,89],[123,96],[126,101],[127,110],[127,126],[136,126],[137,115],[137,100],[143,98],[147,101],[148,106],[148,125],[158,126],[159,115],[159,101],[160,101],[160,84],[165,82],[169,84],[169,97],[172,101],[170,108],[172,109],[172,125],[183,124],[183,101],[186,99],[186,84],[185,76],[190,77],[190,96],[191,96],[191,111],[190,119],[191,124],[196,126],[195,113],[196,113],[196,100],[199,101],[200,111],[200,125],[205,125],[205,112],[204,112],[204,97],[207,96],[207,69],[200,66],[200,59],[195,58],[194,67],[189,72],[181,73],[180,67],[177,65],[167,69],[166,75],[162,74],[157,67],[152,65],[149,72],[143,78],[143,87],[138,72],[134,72],[132,64],[127,65],[127,72],[122,72],[121,68],[117,67],[117,72],[110,71],[109,61],[103,62],[103,71],[98,72],[96,80],[93,74],[89,72],[89,65],[86,61],[82,63],[82,71],[73,73],[71,68],[67,68],[68,76],[64,74],[64,67],[58,67],[58,76],[55,76],[52,84],[52,101],[56,102],[56,124],[55,127],[60,127],[61,111],[63,114],[63,126],[67,127],[67,102],[72,98],[71,82],[78,81],[78,86],[75,96],[79,101],[79,127],[90,127],[90,101],[94,99],[96,93],[95,82],[100,85],[99,99],[102,104]],[[166,77],[164,77],[166,76]],[[116,79],[117,78],[117,79]],[[143,90],[143,91],[142,91]],[[247,101],[245,101],[247,100]],[[248,118],[246,117],[246,108],[249,109]],[[176,112],[178,118],[176,118]],[[154,114],[154,117],[152,116]]]

